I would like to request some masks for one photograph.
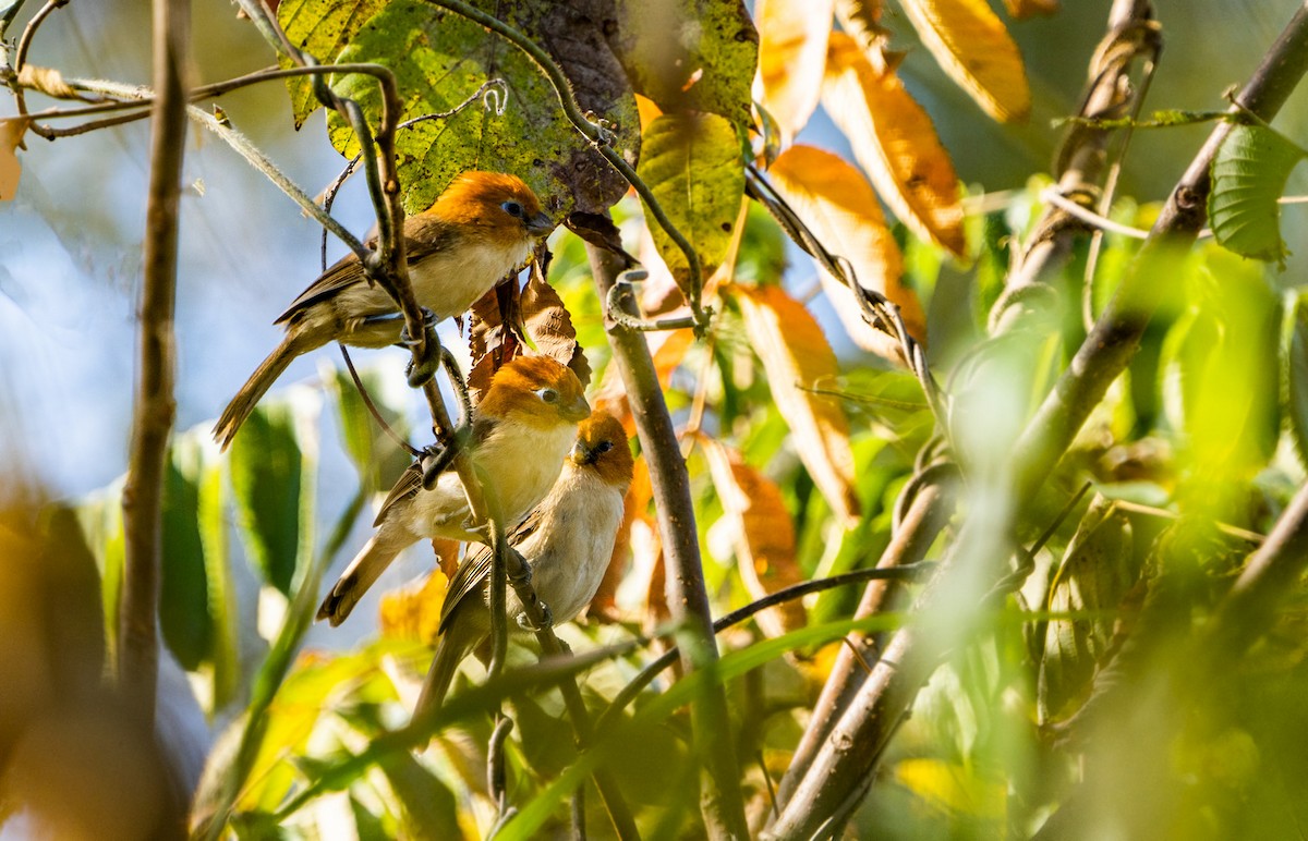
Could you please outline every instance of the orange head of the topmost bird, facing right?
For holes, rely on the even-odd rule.
[[[430,213],[464,230],[505,239],[538,239],[555,229],[531,187],[504,173],[463,173],[450,182]]]

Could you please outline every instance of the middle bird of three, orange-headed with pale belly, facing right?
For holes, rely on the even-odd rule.
[[[577,438],[578,421],[589,415],[577,374],[548,356],[518,357],[496,371],[472,411],[466,446],[488,501],[497,504],[506,524],[521,521],[549,492]],[[323,599],[318,619],[344,621],[395,556],[419,540],[480,540],[470,517],[453,467],[426,489],[422,460],[411,464],[382,502],[373,522],[377,534]]]

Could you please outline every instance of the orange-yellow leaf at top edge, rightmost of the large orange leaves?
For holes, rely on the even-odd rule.
[[[985,0],[903,0],[940,68],[994,119],[1024,120],[1031,90],[1022,54]]]

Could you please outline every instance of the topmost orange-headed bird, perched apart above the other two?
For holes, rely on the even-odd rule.
[[[429,209],[404,220],[404,255],[419,306],[436,320],[458,315],[521,268],[536,242],[555,229],[521,178],[463,173]],[[369,237],[377,247],[377,235]],[[395,301],[371,283],[358,255],[348,254],[300,293],[275,324],[285,336],[232,399],[213,437],[224,450],[272,383],[296,357],[328,341],[385,348],[400,340]]]

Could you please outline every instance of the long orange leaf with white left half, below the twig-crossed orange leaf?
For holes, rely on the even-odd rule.
[[[790,425],[799,459],[845,527],[858,523],[854,453],[840,402],[811,391],[838,373],[836,353],[802,303],[778,286],[735,286],[749,343],[763,360],[781,416]]]

